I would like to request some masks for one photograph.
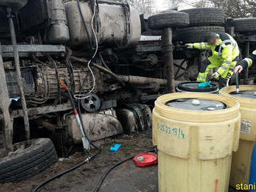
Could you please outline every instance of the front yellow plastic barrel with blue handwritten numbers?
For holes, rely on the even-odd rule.
[[[227,108],[194,111],[166,105],[187,98],[220,101]],[[239,144],[239,108],[237,101],[216,94],[176,93],[157,98],[153,142],[158,149],[159,192],[228,191],[232,151]]]

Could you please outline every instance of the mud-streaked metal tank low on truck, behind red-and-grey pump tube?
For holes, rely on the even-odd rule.
[[[85,125],[85,132],[92,141],[123,133],[123,127],[113,110],[86,113],[82,114],[81,118]],[[67,130],[74,143],[81,143],[81,131],[74,115],[67,117]]]

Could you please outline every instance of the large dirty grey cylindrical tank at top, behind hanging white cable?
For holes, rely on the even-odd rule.
[[[92,33],[91,26],[92,8],[88,2],[80,2],[80,4],[89,36],[92,39],[92,43],[95,43],[95,36]],[[71,35],[71,46],[73,48],[89,48],[89,39],[81,19],[78,4],[76,2],[67,2],[65,7]],[[99,14],[95,15],[95,21],[97,21],[95,33],[99,45],[115,44],[116,46],[127,46],[140,40],[140,15],[136,9],[130,6],[128,7],[121,3],[100,2]]]

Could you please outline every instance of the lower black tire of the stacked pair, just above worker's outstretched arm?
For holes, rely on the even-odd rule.
[[[222,26],[196,26],[178,29],[175,32],[174,41],[182,41],[183,43],[200,43],[205,42],[206,37],[210,33],[225,32]]]

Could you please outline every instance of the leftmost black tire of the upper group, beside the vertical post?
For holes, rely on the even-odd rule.
[[[189,14],[185,12],[161,12],[148,18],[150,29],[164,29],[171,26],[188,26]]]

